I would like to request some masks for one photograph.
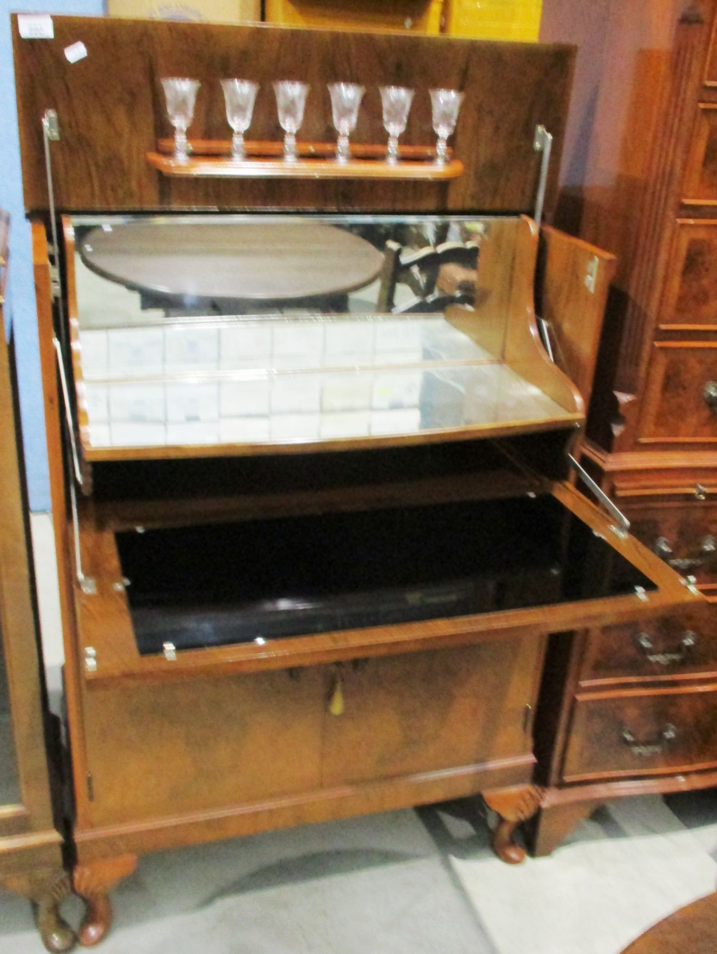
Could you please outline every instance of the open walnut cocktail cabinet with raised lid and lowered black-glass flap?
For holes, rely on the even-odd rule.
[[[521,861],[549,633],[702,602],[569,481],[614,267],[530,217],[573,50],[13,29],[81,943],[174,845],[482,794]],[[286,163],[266,88],[288,73],[312,93]],[[261,89],[233,161],[236,74]],[[165,75],[202,84],[186,162]],[[337,78],[368,91],[345,163]],[[396,82],[417,93],[390,164],[376,87]],[[439,86],[466,104],[445,164]]]

